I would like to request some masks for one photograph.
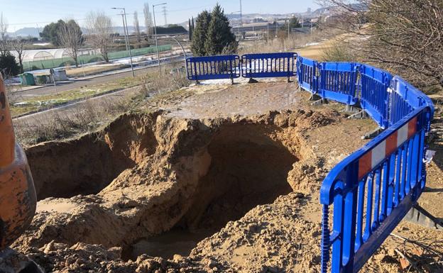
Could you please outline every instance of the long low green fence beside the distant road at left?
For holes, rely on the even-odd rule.
[[[159,51],[168,51],[172,50],[172,45],[160,45],[158,47]],[[138,48],[131,50],[132,56],[140,56],[140,55],[146,55],[157,52],[156,48],[154,46],[151,46],[149,48]],[[109,60],[117,60],[125,57],[129,57],[129,51],[117,51],[117,52],[109,52],[108,54]],[[90,62],[103,62],[104,59],[102,55],[80,55],[78,57],[78,62],[87,64]],[[50,59],[50,60],[38,60],[38,61],[31,61],[31,62],[23,62],[23,70],[24,71],[31,71],[31,70],[37,70],[37,69],[50,69],[50,68],[56,68],[56,67],[63,67],[65,65],[75,65],[74,59],[71,57],[64,57],[64,58],[56,58],[56,59]]]

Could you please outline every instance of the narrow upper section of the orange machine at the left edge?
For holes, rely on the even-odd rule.
[[[0,168],[14,160],[15,137],[3,77],[0,74]]]

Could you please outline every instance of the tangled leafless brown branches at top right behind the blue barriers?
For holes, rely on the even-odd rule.
[[[329,0],[334,26],[354,33],[361,59],[418,87],[443,87],[442,0]]]

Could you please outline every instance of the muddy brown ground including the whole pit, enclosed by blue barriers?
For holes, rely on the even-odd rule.
[[[376,125],[307,99],[294,83],[188,87],[28,147],[40,201],[13,248],[46,272],[319,272],[319,186]],[[443,218],[438,162],[420,204]],[[362,272],[441,272],[443,233],[395,234],[422,247],[388,238]]]

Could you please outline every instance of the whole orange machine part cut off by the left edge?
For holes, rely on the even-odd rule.
[[[0,252],[31,224],[37,199],[25,152],[15,141],[0,74]]]

